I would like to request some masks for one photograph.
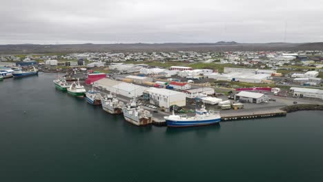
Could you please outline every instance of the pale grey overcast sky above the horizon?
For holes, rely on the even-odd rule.
[[[0,44],[285,39],[323,41],[322,0],[1,0],[0,4]]]

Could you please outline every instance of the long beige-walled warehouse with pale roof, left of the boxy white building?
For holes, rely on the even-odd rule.
[[[115,81],[112,79],[99,79],[93,85],[96,88],[107,90],[108,92],[120,94],[124,97],[133,98],[143,94],[148,88],[135,85],[133,83],[126,83],[122,81]]]

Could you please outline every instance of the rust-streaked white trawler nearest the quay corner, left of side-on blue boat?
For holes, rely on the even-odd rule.
[[[122,108],[124,119],[134,125],[148,125],[153,123],[153,115],[137,105],[137,99],[132,99],[125,108]]]

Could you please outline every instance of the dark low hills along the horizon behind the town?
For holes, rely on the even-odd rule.
[[[215,51],[296,51],[323,50],[323,43],[116,43],[68,45],[0,45],[0,54],[72,53],[72,52],[215,52]]]

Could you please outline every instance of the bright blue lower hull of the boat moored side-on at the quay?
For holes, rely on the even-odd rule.
[[[219,119],[210,119],[210,120],[201,120],[201,121],[173,121],[166,119],[166,125],[168,127],[190,127],[190,126],[199,126],[199,125],[214,125],[219,123]]]

